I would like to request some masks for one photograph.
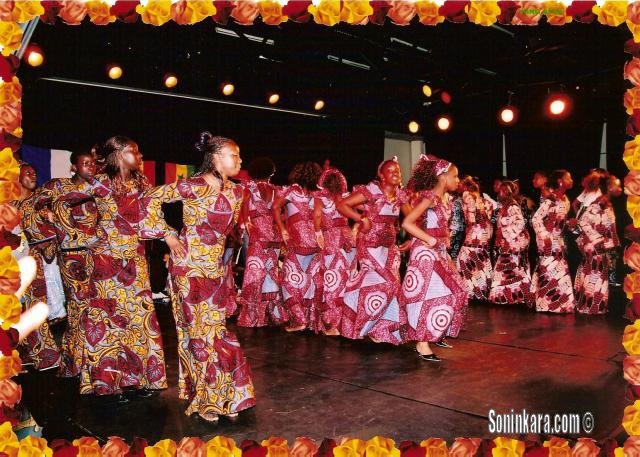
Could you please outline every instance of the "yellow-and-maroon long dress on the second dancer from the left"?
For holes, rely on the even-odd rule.
[[[60,273],[67,296],[67,327],[60,346],[62,363],[59,375],[63,377],[80,373],[84,340],[80,316],[96,293],[91,281],[93,256],[90,247],[104,237],[98,226],[95,200],[79,194],[77,189],[70,178],[52,179],[45,183],[40,197],[44,204],[51,206],[55,215]],[[74,200],[76,204],[64,204],[66,200]]]

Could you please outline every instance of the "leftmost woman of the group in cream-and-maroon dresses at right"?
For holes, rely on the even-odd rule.
[[[458,271],[469,298],[487,300],[493,274],[490,253],[493,205],[480,193],[480,186],[471,176],[466,176],[460,187],[465,237],[457,258]]]

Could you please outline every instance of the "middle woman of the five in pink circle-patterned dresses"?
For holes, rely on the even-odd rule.
[[[336,202],[347,197],[347,180],[336,168],[328,168],[320,176],[318,188],[313,216],[316,240],[322,249],[322,322],[326,335],[339,335],[344,289],[356,266],[353,232],[347,218],[336,209]]]

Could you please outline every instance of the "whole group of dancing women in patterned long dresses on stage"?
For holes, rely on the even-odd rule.
[[[45,323],[26,340],[25,360],[79,376],[82,394],[122,402],[167,387],[145,239],[162,239],[170,250],[179,396],[188,401],[186,414],[208,422],[255,405],[249,366],[225,323],[237,308],[240,326],[414,342],[418,356],[432,362],[440,358],[430,343],[451,347],[444,337],[460,332],[469,297],[535,303],[540,311],[607,311],[610,254],[618,242],[604,171],[583,180],[572,220],[565,196],[570,174],[556,171],[538,186],[530,225],[539,255],[531,277],[527,205],[517,182],[502,181],[494,201],[474,178],[460,181],[452,163],[422,155],[405,187],[396,159],[351,192],[339,170],[313,162],[297,164],[288,186],[275,186],[268,158],[254,159],[251,179],[236,184],[231,178],[242,160],[233,140],[203,132],[196,150],[202,165],[193,177],[158,187],[141,172],[137,144],[121,136],[72,154],[73,177],[39,188],[33,167],[22,164],[15,205],[24,243],[14,247],[24,255],[28,246],[38,265],[24,306],[51,302],[52,269],[45,265],[57,263],[68,315],[60,347]],[[104,159],[100,171],[97,157]],[[162,212],[163,203],[178,201],[180,233]],[[575,285],[565,225],[578,233],[584,256]],[[409,235],[404,242],[401,227]],[[456,227],[464,227],[463,237]],[[232,260],[243,239],[236,296]]]

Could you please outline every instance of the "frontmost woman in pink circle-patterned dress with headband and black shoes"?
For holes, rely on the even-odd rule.
[[[413,167],[409,187],[415,204],[402,222],[412,235],[407,273],[399,301],[403,314],[403,341],[416,341],[420,358],[439,362],[429,347],[445,335],[456,337],[467,312],[465,284],[447,253],[446,192],[458,188],[458,169],[451,162],[421,155]]]

